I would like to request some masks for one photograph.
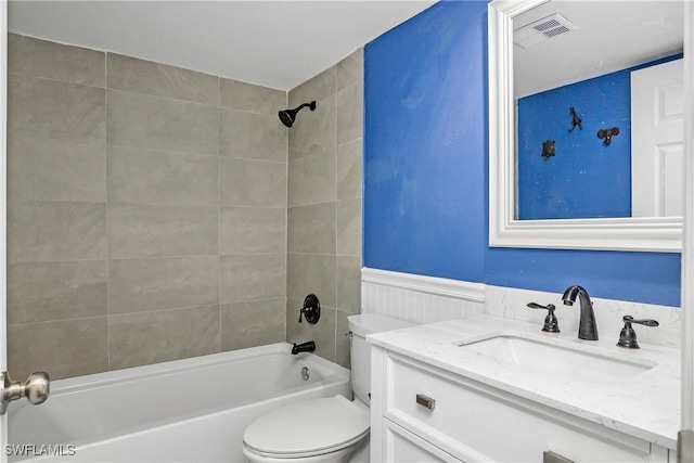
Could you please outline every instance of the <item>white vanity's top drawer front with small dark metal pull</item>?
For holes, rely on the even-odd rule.
[[[395,355],[385,394],[387,419],[460,460],[650,461],[646,441]]]

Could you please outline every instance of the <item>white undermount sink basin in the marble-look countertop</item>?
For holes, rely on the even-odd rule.
[[[457,344],[462,349],[478,356],[488,357],[500,363],[519,365],[535,374],[562,382],[624,382],[655,366],[651,363],[608,357],[510,334],[492,335],[484,339]]]

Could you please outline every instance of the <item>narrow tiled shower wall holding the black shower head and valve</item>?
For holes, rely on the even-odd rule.
[[[363,51],[290,91],[304,108],[288,132],[287,340],[349,365],[347,317],[361,311]],[[308,294],[321,319],[298,323]]]

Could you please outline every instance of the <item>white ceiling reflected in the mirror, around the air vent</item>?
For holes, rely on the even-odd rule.
[[[518,29],[553,13],[578,28],[513,49],[516,98],[682,52],[682,0],[552,0],[514,18]]]

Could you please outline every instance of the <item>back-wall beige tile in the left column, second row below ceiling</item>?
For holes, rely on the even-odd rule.
[[[8,140],[48,138],[101,144],[105,90],[26,76],[8,76]]]

